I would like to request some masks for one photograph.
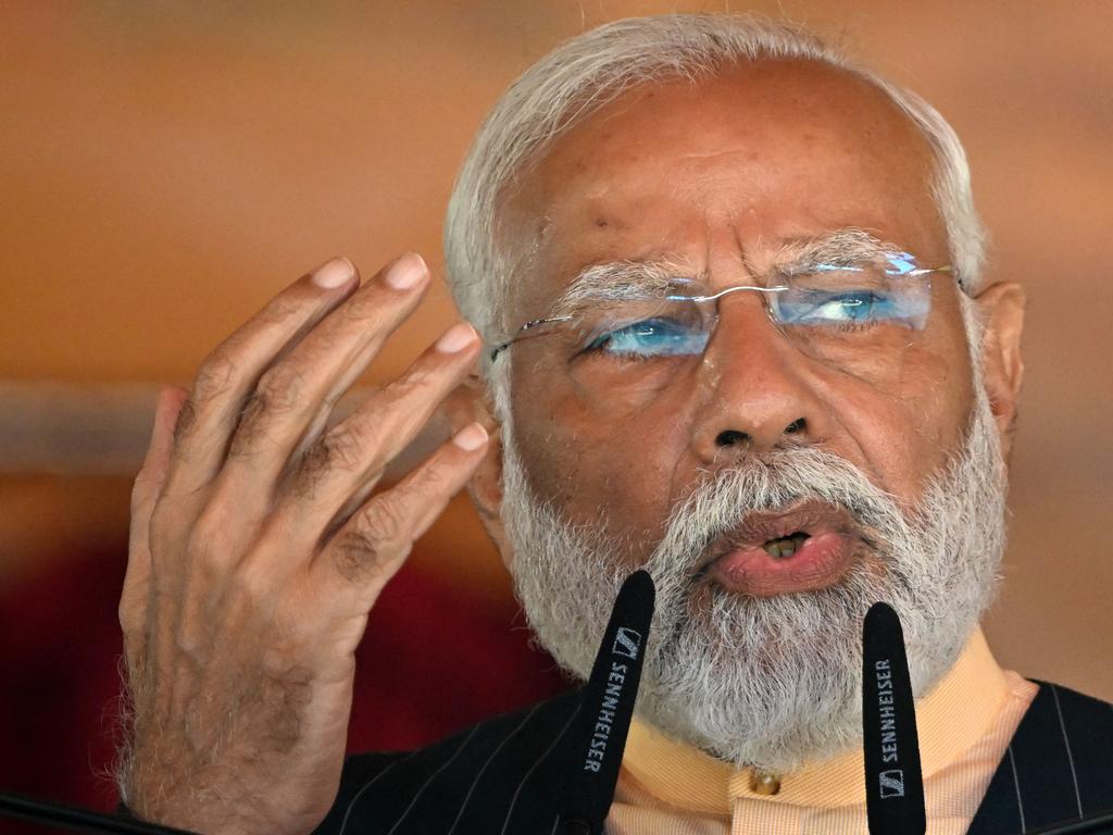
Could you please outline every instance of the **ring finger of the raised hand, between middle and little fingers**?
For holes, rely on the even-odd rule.
[[[372,394],[308,449],[274,512],[292,552],[314,552],[349,497],[371,492],[387,463],[466,375],[479,350],[471,325],[453,325],[405,374]]]

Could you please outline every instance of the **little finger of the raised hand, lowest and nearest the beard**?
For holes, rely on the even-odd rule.
[[[483,460],[487,433],[472,423],[390,490],[368,500],[314,558],[311,570],[364,610]]]

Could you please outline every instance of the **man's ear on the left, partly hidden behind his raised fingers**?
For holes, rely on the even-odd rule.
[[[502,426],[494,416],[490,390],[477,374],[472,374],[444,400],[441,410],[453,433],[479,421],[490,435],[483,461],[467,482],[467,494],[487,536],[502,554],[503,562],[509,566],[511,553],[499,512],[502,508]]]

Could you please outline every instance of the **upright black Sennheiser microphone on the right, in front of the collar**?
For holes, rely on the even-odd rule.
[[[861,626],[861,736],[870,835],[924,835],[924,774],[900,619],[874,603]]]

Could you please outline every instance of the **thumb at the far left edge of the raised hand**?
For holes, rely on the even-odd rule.
[[[188,396],[189,392],[178,386],[159,389],[155,401],[150,444],[131,488],[128,567],[119,605],[120,627],[126,644],[129,636],[141,631],[146,619],[147,587],[150,579],[150,517],[174,451],[174,428]],[[125,649],[129,650],[127,646]],[[132,660],[129,658],[129,661]]]

